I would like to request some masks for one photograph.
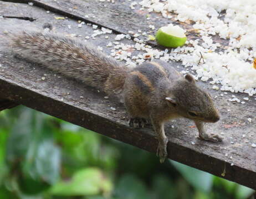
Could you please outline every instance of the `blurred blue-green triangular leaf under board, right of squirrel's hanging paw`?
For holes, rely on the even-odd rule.
[[[196,189],[202,192],[209,192],[213,183],[213,175],[207,172],[194,169],[176,161],[170,160],[172,165],[181,172],[181,175]]]

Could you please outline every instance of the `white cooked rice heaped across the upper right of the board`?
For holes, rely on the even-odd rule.
[[[193,20],[196,22],[193,28],[199,29],[203,43],[198,45],[199,39],[190,40],[186,44],[192,47],[185,45],[166,53],[145,48],[137,39],[136,42],[140,41],[135,45],[137,50],[150,53],[152,58],[181,61],[182,65],[196,71],[196,78],[221,83],[222,91],[245,92],[249,96],[256,93],[256,70],[252,65],[256,58],[255,0],[142,0],[139,4],[149,12],[162,13],[165,18],[173,20],[169,12],[175,12],[177,17],[174,20]],[[221,14],[222,11],[226,14]],[[228,47],[213,43],[212,35],[216,34],[229,39]],[[204,63],[201,60],[198,64],[200,53]]]

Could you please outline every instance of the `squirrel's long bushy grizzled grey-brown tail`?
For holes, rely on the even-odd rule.
[[[52,33],[22,32],[9,35],[14,53],[106,93],[120,93],[127,68],[86,41]]]

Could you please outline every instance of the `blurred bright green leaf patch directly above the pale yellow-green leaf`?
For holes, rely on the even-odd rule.
[[[113,171],[119,151],[90,130],[68,127],[57,129],[54,136],[62,146],[65,174],[70,176],[81,167],[98,166]],[[110,171],[110,172],[111,172]]]

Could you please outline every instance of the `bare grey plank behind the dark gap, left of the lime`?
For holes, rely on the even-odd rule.
[[[19,1],[17,1],[19,2]],[[50,0],[32,0],[23,1],[32,2],[34,6],[44,8],[48,11],[66,15],[70,18],[83,19],[85,22],[108,27],[115,30],[116,33],[128,34],[132,26],[146,30],[146,17],[141,18],[140,13],[134,13],[129,9],[129,3],[122,1],[120,3],[100,3],[99,1],[50,1]],[[103,23],[102,23],[103,22]],[[138,30],[138,29],[137,29]]]

